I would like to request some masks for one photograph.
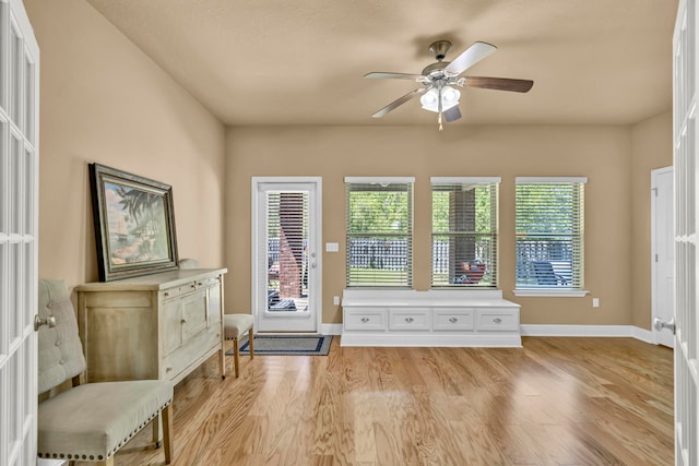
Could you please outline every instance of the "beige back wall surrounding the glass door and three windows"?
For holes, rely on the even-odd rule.
[[[500,288],[522,304],[522,323],[631,323],[631,138],[628,127],[237,127],[227,130],[226,263],[236,264],[226,297],[250,306],[250,178],[321,176],[323,323],[339,323],[332,304],[344,288],[345,176],[414,176],[414,286],[429,287],[430,176],[501,176]],[[587,176],[585,288],[591,298],[517,298],[514,177]]]

